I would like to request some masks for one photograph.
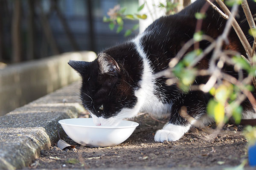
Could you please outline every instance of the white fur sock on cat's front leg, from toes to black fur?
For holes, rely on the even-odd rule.
[[[177,141],[189,130],[190,126],[191,125],[180,126],[168,123],[163,129],[157,130],[154,140],[156,142]]]

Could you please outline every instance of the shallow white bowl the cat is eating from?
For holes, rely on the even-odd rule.
[[[96,126],[92,118],[63,119],[58,122],[76,143],[96,147],[124,142],[139,125],[137,122],[122,120],[118,126]]]

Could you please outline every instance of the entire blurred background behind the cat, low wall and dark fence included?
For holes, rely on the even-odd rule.
[[[79,80],[70,59],[93,61],[190,2],[0,0],[0,116]]]

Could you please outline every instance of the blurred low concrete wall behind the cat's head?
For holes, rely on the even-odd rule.
[[[93,61],[92,51],[69,52],[0,70],[0,116],[79,79],[67,62]]]

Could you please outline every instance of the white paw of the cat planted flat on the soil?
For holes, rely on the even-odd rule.
[[[181,136],[183,136],[183,134]],[[175,134],[175,132],[161,129],[157,131],[154,139],[156,142],[177,141],[181,138],[181,136],[179,134]]]

